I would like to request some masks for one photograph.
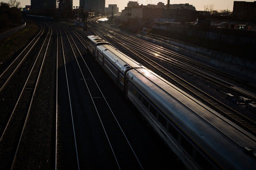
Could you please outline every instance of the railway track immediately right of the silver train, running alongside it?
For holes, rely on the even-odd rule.
[[[99,35],[97,33],[98,31],[100,31],[99,28],[97,29],[97,31],[94,30],[93,28],[91,28],[91,29],[92,29],[92,31],[95,34]],[[102,31],[102,33],[104,35],[108,35],[103,30],[101,30],[101,31]],[[104,37],[102,37],[102,38],[104,38]],[[229,106],[223,104],[219,100],[215,99],[214,97],[212,97],[211,95],[205,93],[204,91],[198,89],[197,87],[191,85],[189,82],[186,82],[185,80],[181,79],[179,76],[171,73],[166,68],[164,68],[163,66],[161,66],[158,63],[154,62],[153,60],[149,59],[148,57],[143,55],[140,51],[135,50],[131,46],[128,46],[126,43],[123,43],[120,40],[118,40],[118,39],[116,39],[116,38],[114,38],[112,36],[109,36],[109,38],[113,39],[120,46],[122,46],[125,49],[129,50],[136,57],[140,58],[142,61],[147,63],[147,65],[149,65],[151,68],[154,68],[159,73],[162,73],[162,75],[164,75],[166,78],[171,80],[171,82],[173,84],[177,85],[182,90],[184,90],[187,93],[189,93],[190,95],[196,97],[201,102],[203,102],[204,104],[210,106],[211,108],[216,110],[221,115],[223,115],[223,116],[227,117],[228,119],[230,119],[231,121],[235,122],[236,124],[238,124],[239,126],[244,128],[245,130],[247,130],[249,133],[251,133],[253,135],[256,135],[256,123],[254,121],[252,121],[251,119],[249,119],[246,116],[242,115],[241,113],[233,110]]]

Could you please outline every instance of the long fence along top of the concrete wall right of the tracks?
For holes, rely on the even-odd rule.
[[[169,39],[155,34],[138,32],[138,37],[161,44],[167,48],[189,54],[193,57],[203,59],[217,66],[237,66],[237,70],[248,69],[256,71],[256,61],[242,59],[240,57],[219,53],[213,50],[204,49],[191,44],[186,44],[177,40]],[[227,64],[227,65],[225,65]]]

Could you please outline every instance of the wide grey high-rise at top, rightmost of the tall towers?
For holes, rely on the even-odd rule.
[[[105,0],[80,0],[79,6],[83,7],[84,10],[91,10],[99,14],[105,12]]]

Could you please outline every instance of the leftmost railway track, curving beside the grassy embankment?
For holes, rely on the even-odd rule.
[[[24,48],[16,59],[7,67],[7,69],[0,75],[0,92],[4,89],[5,85],[9,82],[12,76],[17,72],[23,61],[26,59],[30,51],[36,45],[40,37],[44,33],[44,27],[41,25],[39,33],[35,38]]]

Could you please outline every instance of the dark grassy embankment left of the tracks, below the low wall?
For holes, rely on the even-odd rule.
[[[36,36],[38,30],[38,25],[27,22],[24,29],[2,40],[0,42],[0,68],[1,65],[16,57],[14,54],[21,51]]]

